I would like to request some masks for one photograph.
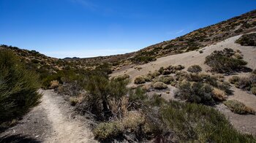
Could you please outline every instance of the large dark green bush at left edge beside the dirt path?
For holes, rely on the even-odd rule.
[[[37,93],[36,74],[26,70],[12,53],[0,53],[0,124],[21,117],[37,106],[41,94]]]

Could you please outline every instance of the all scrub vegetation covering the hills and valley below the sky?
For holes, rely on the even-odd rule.
[[[256,26],[255,13],[249,12],[200,28],[135,53],[112,57],[62,60],[49,58],[34,50],[1,45],[23,58],[16,59],[10,53],[0,53],[0,122],[21,117],[39,103],[42,95],[37,93],[40,86],[37,75],[29,71],[33,69],[39,73],[42,88],[52,88],[61,95],[68,95],[67,100],[77,111],[97,120],[93,133],[100,142],[256,142],[254,136],[236,131],[216,109],[203,105],[224,101],[233,112],[255,114],[253,109],[239,101],[225,101],[232,92],[223,75],[202,74],[198,65],[190,66],[187,69],[189,72],[181,71],[185,68],[181,65],[167,66],[135,77],[132,82],[136,85],[131,89],[127,88],[128,74],[110,79],[108,76],[131,63],[148,63],[165,55],[192,50],[203,53],[199,50],[201,47],[252,30]],[[255,46],[255,35],[246,34],[237,42]],[[214,72],[230,74],[246,69],[246,61],[242,58],[241,51],[225,48],[208,55],[205,63]],[[19,61],[25,63],[26,68],[20,66]],[[142,69],[140,66],[132,67],[138,71]],[[256,94],[255,74],[256,71],[253,71],[250,77],[234,76],[229,81]],[[159,92],[170,85],[178,88],[175,96],[187,102],[166,101],[157,93],[146,95],[146,92]],[[170,93],[172,90],[162,92]]]

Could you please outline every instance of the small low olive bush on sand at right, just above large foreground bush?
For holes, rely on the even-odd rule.
[[[246,105],[244,105],[243,103],[241,103],[240,101],[236,101],[236,100],[228,100],[223,102],[232,112],[235,112],[237,114],[240,115],[244,115],[244,114],[255,114],[255,110],[250,108],[250,107],[246,107]]]

